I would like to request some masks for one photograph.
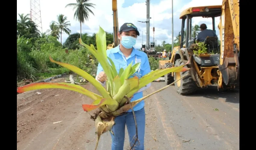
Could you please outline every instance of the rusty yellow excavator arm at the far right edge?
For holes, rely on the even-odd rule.
[[[239,87],[239,0],[223,0],[218,88]],[[224,82],[224,83],[223,83]]]

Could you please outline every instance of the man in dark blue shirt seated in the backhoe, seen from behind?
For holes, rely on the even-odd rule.
[[[209,37],[217,37],[216,33],[213,30],[207,29],[206,24],[200,25],[201,32],[198,33],[196,41],[198,42],[204,42],[204,40]],[[218,37],[217,37],[218,38]]]

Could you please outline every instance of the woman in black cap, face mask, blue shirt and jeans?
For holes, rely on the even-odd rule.
[[[120,40],[120,45],[107,50],[107,56],[112,59],[115,64],[116,70],[119,73],[120,69],[125,69],[131,62],[133,64],[141,63],[137,72],[133,76],[138,76],[141,78],[142,76],[148,74],[150,72],[150,65],[148,61],[148,56],[146,53],[138,51],[133,48],[136,44],[137,36],[139,36],[139,31],[136,26],[132,23],[124,23],[120,27],[120,31],[117,34],[118,39]],[[102,84],[105,85],[107,81],[107,76],[101,67],[101,64],[98,64],[97,76],[96,79]],[[138,100],[143,97],[142,91],[148,88],[151,85],[149,83],[145,87],[141,88],[138,92],[136,92],[130,99],[131,102]],[[144,110],[145,102],[144,100],[133,107],[137,128],[138,128],[138,141],[135,142],[136,138],[136,125],[133,118],[132,110],[128,110],[123,115],[117,116],[115,118],[115,125],[112,127],[112,131],[114,133],[111,134],[112,137],[112,150],[123,150],[124,146],[124,137],[125,137],[125,125],[127,127],[127,131],[130,138],[130,146],[135,148],[135,150],[144,150],[144,135],[145,135],[145,110]]]

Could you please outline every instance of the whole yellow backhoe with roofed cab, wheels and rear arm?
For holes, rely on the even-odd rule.
[[[189,64],[186,65],[186,67],[190,68],[190,70],[165,75],[165,81],[167,84],[170,84],[185,76],[183,79],[175,83],[175,89],[180,95],[192,94],[198,88],[205,88],[209,85],[218,85],[218,89],[239,88],[239,61],[236,61],[236,57],[239,57],[239,48],[237,48],[239,47],[239,44],[238,46],[233,46],[234,41],[228,41],[226,37],[224,38],[222,27],[220,27],[221,29],[219,28],[220,34],[222,34],[220,36],[220,45],[218,44],[218,39],[216,37],[207,37],[204,42],[199,44],[195,43],[195,37],[191,37],[192,18],[212,18],[212,30],[216,31],[215,18],[222,16],[221,18],[223,19],[225,16],[226,20],[223,22],[223,24],[225,23],[226,27],[225,34],[229,36],[229,39],[234,39],[234,37],[238,35],[239,39],[239,19],[235,24],[236,26],[238,24],[238,34],[235,34],[234,36],[234,31],[232,28],[234,24],[232,24],[233,22],[231,21],[231,7],[228,7],[230,5],[229,2],[230,1],[223,1],[225,9],[223,9],[223,5],[191,7],[184,10],[180,14],[180,19],[182,19],[182,28],[179,41],[180,46],[174,47],[171,59],[168,62],[164,62],[164,68],[168,68],[177,67],[186,64],[189,61]],[[236,10],[238,11],[239,15],[239,6],[238,8],[236,7]],[[237,12],[234,13],[237,14]],[[235,28],[237,29],[237,27]],[[231,35],[232,38],[230,38]],[[229,47],[226,45],[229,45]],[[230,58],[225,58],[225,56]],[[160,69],[163,68],[163,62],[159,62],[159,67]]]

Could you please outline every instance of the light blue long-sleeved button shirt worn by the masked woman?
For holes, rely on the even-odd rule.
[[[112,61],[114,62],[117,73],[119,73],[120,68],[125,69],[132,61],[133,61],[133,64],[135,64],[135,58],[136,58],[137,63],[141,62],[140,67],[136,72],[136,76],[141,78],[142,76],[148,74],[151,71],[147,54],[145,52],[139,51],[137,49],[133,48],[131,55],[129,57],[125,58],[123,53],[120,51],[120,47],[118,45],[115,48],[107,50],[107,56],[109,58],[111,58]],[[97,75],[101,71],[103,71],[103,69],[101,67],[101,64],[99,63],[98,69],[97,69]],[[148,86],[150,86],[150,85],[148,85]],[[143,97],[143,93],[142,93],[141,89],[133,95],[131,102]],[[145,105],[145,102],[143,100],[139,104],[137,104],[135,107],[133,107],[133,110],[134,111],[140,110],[144,107],[144,105]],[[131,109],[128,110],[128,112],[131,112],[131,111],[132,111]]]

